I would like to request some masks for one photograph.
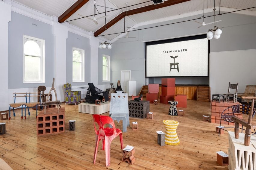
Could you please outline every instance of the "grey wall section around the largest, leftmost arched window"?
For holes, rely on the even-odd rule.
[[[35,24],[35,25],[32,25]],[[45,83],[23,83],[23,35],[45,40]],[[8,88],[50,87],[54,77],[52,25],[11,12],[8,23]]]

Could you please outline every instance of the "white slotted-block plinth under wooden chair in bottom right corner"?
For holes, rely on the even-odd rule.
[[[249,146],[244,145],[244,133],[239,133],[239,139],[234,132],[229,134],[229,169],[256,169],[256,136],[251,135]]]

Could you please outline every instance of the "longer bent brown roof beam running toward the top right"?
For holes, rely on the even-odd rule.
[[[155,9],[159,9],[159,8],[163,8],[163,7],[168,7],[170,5],[179,4],[179,3],[182,3],[182,2],[186,2],[186,1],[190,1],[190,0],[169,0],[169,1],[164,1],[164,3],[161,3],[161,4],[156,4],[156,5],[152,4],[152,5],[148,5],[148,6],[145,6],[145,7],[136,8],[136,9],[133,9],[133,10],[128,10],[127,11],[127,15],[134,15],[134,14],[137,14],[137,13],[147,12],[147,11],[151,11],[151,10],[155,10]],[[104,32],[105,31],[105,27],[107,29],[110,28],[112,25],[114,25],[115,23],[120,21],[125,16],[126,16],[126,11],[120,13],[114,19],[109,21],[106,25],[102,26],[97,31],[95,31],[94,32],[94,37],[97,37],[99,34]]]

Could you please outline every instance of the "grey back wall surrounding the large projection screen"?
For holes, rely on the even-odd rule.
[[[217,12],[218,13],[218,12]],[[209,15],[213,13],[208,13]],[[157,24],[145,25],[141,28],[148,28],[157,25],[163,25],[168,23],[180,22],[184,20],[198,18],[202,15],[190,16],[183,19],[176,19],[168,22],[162,22]],[[222,20],[217,22],[216,25],[224,27],[222,29],[221,37],[216,40],[210,40],[210,52],[218,51],[233,51],[233,50],[245,50],[245,49],[255,49],[256,48],[256,34],[255,34],[255,16],[247,16],[242,14],[229,13],[221,16],[216,16],[216,20]],[[202,20],[202,19],[201,19]],[[199,20],[199,22],[201,22]],[[214,21],[213,17],[205,18],[205,22]],[[136,70],[139,65],[144,65],[145,58],[145,42],[142,41],[152,41],[166,38],[174,38],[181,36],[190,36],[193,34],[205,34],[208,29],[212,29],[214,24],[207,25],[198,28],[199,25],[194,21],[182,22],[172,25],[166,25],[156,28],[150,28],[140,31],[133,31],[130,36],[136,36],[136,38],[120,39],[113,44],[112,55],[113,55],[113,65],[125,66],[128,70]],[[134,60],[134,59],[140,60]],[[125,61],[125,65],[123,64]],[[135,61],[135,62],[133,62]],[[221,61],[220,61],[221,62]],[[256,61],[255,61],[256,62]],[[227,63],[228,64],[228,63]],[[239,65],[239,60],[237,61]],[[210,63],[211,66],[211,63]],[[140,73],[144,72],[144,66],[141,67]],[[221,68],[216,68],[221,69]],[[119,71],[119,73],[117,73]],[[137,73],[132,73],[132,76]],[[112,79],[117,80],[120,78],[120,69],[113,69]],[[144,74],[136,75],[134,80],[137,81],[137,93],[144,81]],[[154,79],[154,81],[153,81]],[[149,78],[150,83],[161,83],[161,78]],[[207,77],[197,77],[197,78],[176,78],[176,84],[209,84],[209,78]]]

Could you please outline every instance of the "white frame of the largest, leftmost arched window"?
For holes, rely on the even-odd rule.
[[[25,39],[29,39],[32,41],[38,41],[41,42],[41,45],[39,46],[40,52],[41,52],[41,56],[40,56],[40,66],[41,66],[41,75],[40,75],[40,80],[35,81],[28,81],[25,80],[25,52],[24,52],[24,45],[26,40]],[[32,56],[32,55],[28,55],[28,56]],[[38,57],[38,56],[35,56]],[[40,38],[36,38],[36,37],[30,37],[28,35],[23,35],[23,83],[45,83],[45,40],[40,39]]]

